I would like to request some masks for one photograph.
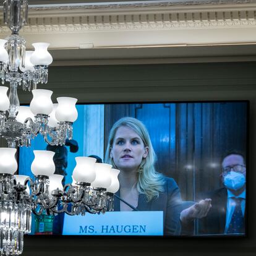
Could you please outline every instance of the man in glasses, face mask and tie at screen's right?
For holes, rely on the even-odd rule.
[[[245,177],[244,156],[229,153],[222,161],[224,187],[210,192],[211,209],[200,221],[199,231],[204,234],[244,234]]]

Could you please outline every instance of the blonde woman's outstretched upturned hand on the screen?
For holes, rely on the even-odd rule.
[[[201,200],[200,202],[195,203],[191,207],[181,211],[181,216],[180,216],[181,222],[187,223],[195,219],[203,218],[207,216],[207,213],[210,210],[210,208],[211,208],[210,198]]]

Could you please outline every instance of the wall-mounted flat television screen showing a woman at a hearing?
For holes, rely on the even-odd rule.
[[[110,151],[116,166],[121,166],[117,194],[125,197],[135,209],[129,209],[115,198],[114,211],[105,215],[34,216],[32,234],[246,235],[248,101],[79,104],[77,111],[79,117],[74,122],[73,140],[63,147],[47,148],[56,151],[56,173],[66,175],[65,184],[72,183],[76,156],[93,155],[98,161],[105,161],[109,132],[122,117],[134,117],[145,125],[155,151],[155,163],[152,165],[151,161],[154,168],[148,168],[151,172],[148,174],[144,164],[135,174],[130,174],[125,164],[131,160],[122,159],[126,163],[121,163],[121,157],[142,161],[149,154],[145,150],[147,145],[142,142],[140,150],[144,151],[138,151],[140,141],[135,139],[140,139],[140,135],[131,127],[121,130],[119,137],[116,132],[114,136],[118,138],[114,137]],[[38,135],[32,147],[20,148],[19,174],[32,177],[33,150],[45,150],[46,147]],[[132,189],[127,190],[131,182]],[[189,207],[197,210],[198,205],[194,204],[205,198],[211,199],[207,216],[181,221],[181,213],[186,216]],[[176,200],[180,199],[177,207]],[[238,228],[234,222],[240,223]]]

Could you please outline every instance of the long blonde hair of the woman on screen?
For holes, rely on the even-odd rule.
[[[110,157],[110,151],[113,147],[116,131],[121,126],[127,126],[133,129],[142,139],[144,147],[148,147],[148,155],[146,158],[142,159],[138,168],[137,189],[140,194],[145,194],[147,200],[150,201],[152,198],[158,197],[160,192],[163,192],[164,179],[163,174],[155,170],[156,154],[152,147],[148,130],[141,121],[133,117],[123,117],[114,123],[109,132],[105,163],[112,164],[114,168],[117,168],[113,158]]]

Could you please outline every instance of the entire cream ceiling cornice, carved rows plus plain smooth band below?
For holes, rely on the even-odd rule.
[[[20,31],[28,49],[32,42],[48,41],[67,54],[87,46],[250,44],[256,42],[256,0],[30,6],[28,22]],[[9,34],[0,15],[0,37]]]

